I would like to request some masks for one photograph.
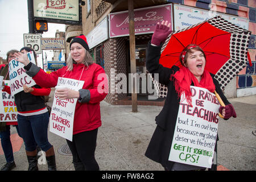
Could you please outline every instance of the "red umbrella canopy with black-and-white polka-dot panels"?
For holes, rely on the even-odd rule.
[[[163,44],[159,63],[171,68],[181,67],[179,56],[188,44],[197,44],[206,55],[206,65],[215,75],[221,89],[246,67],[247,48],[251,32],[216,16],[199,24],[172,32]],[[160,97],[167,88],[154,81]]]

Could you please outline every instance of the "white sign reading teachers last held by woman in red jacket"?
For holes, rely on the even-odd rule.
[[[57,86],[78,91],[84,81],[59,77]],[[57,89],[57,88],[56,88]],[[54,93],[52,111],[49,120],[49,131],[72,141],[73,122],[77,98],[60,100]]]

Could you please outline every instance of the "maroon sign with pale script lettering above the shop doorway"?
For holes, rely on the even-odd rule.
[[[134,10],[135,35],[148,34],[155,30],[155,25],[162,20],[172,22],[172,5],[161,5]],[[109,36],[111,38],[129,35],[128,11],[109,15]]]

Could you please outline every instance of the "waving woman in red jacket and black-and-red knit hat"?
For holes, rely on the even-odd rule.
[[[98,170],[94,158],[98,127],[101,126],[100,101],[108,94],[108,80],[100,65],[92,63],[84,35],[73,38],[67,66],[51,74],[28,61],[26,55],[15,53],[16,60],[25,65],[26,73],[36,84],[44,87],[57,85],[58,77],[84,81],[79,91],[68,88],[56,90],[60,99],[78,98],[73,123],[73,141],[67,140],[73,155],[75,170]]]

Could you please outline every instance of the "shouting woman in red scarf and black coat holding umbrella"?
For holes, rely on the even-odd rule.
[[[170,27],[171,24],[168,24],[168,21],[163,21],[161,24],[158,23],[151,42],[148,43],[146,55],[147,70],[150,73],[159,74],[159,83],[167,86],[168,93],[163,109],[155,119],[157,126],[145,155],[155,162],[162,164],[166,170],[187,171],[205,169],[168,160],[175,132],[181,93],[185,93],[188,104],[191,104],[192,94],[190,86],[205,88],[212,93],[216,90],[226,105],[225,107],[220,106],[219,109],[224,119],[229,119],[232,116],[236,118],[236,111],[222,93],[218,81],[213,78],[214,75],[204,69],[205,64],[207,64],[206,56],[203,49],[196,44],[189,44],[180,53],[180,62],[183,65],[181,68],[175,65],[172,68],[166,68],[159,64],[161,43],[170,34]],[[214,151],[217,152],[217,143]],[[216,170],[217,165],[213,164],[211,169]]]

